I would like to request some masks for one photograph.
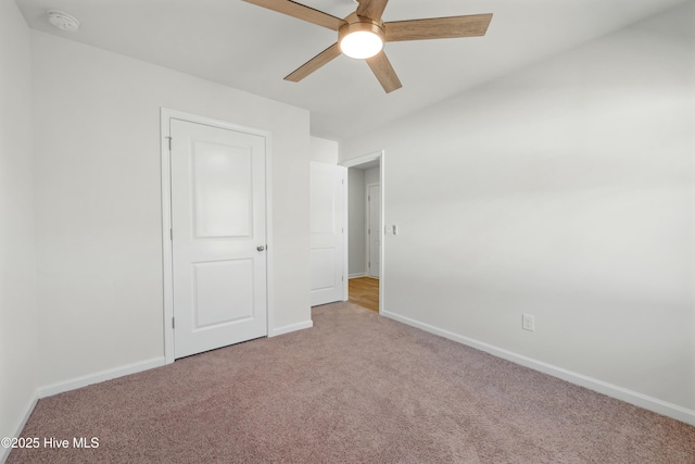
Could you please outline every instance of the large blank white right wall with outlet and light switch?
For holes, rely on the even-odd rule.
[[[386,310],[695,423],[694,16],[341,143],[389,156]]]

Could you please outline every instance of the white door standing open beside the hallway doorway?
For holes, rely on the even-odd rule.
[[[326,163],[311,165],[312,306],[345,299],[345,173]]]

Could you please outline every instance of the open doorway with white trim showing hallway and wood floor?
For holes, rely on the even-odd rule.
[[[348,300],[383,308],[383,152],[341,163],[348,167]]]

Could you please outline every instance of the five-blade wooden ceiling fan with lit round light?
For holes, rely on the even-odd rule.
[[[492,13],[427,20],[381,20],[389,0],[356,0],[357,10],[344,20],[292,0],[244,0],[338,32],[338,41],[285,77],[299,83],[341,53],[364,59],[387,93],[402,87],[383,52],[384,42],[484,36]]]

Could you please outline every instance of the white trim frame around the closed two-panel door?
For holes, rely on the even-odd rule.
[[[172,250],[172,160],[169,151],[169,121],[181,120],[195,124],[251,134],[265,138],[265,221],[266,221],[266,333],[270,336],[274,327],[274,242],[273,242],[273,139],[267,130],[241,126],[239,124],[214,120],[198,114],[161,108],[160,110],[160,151],[162,176],[162,273],[164,298],[164,360],[166,364],[174,362],[174,273]]]

